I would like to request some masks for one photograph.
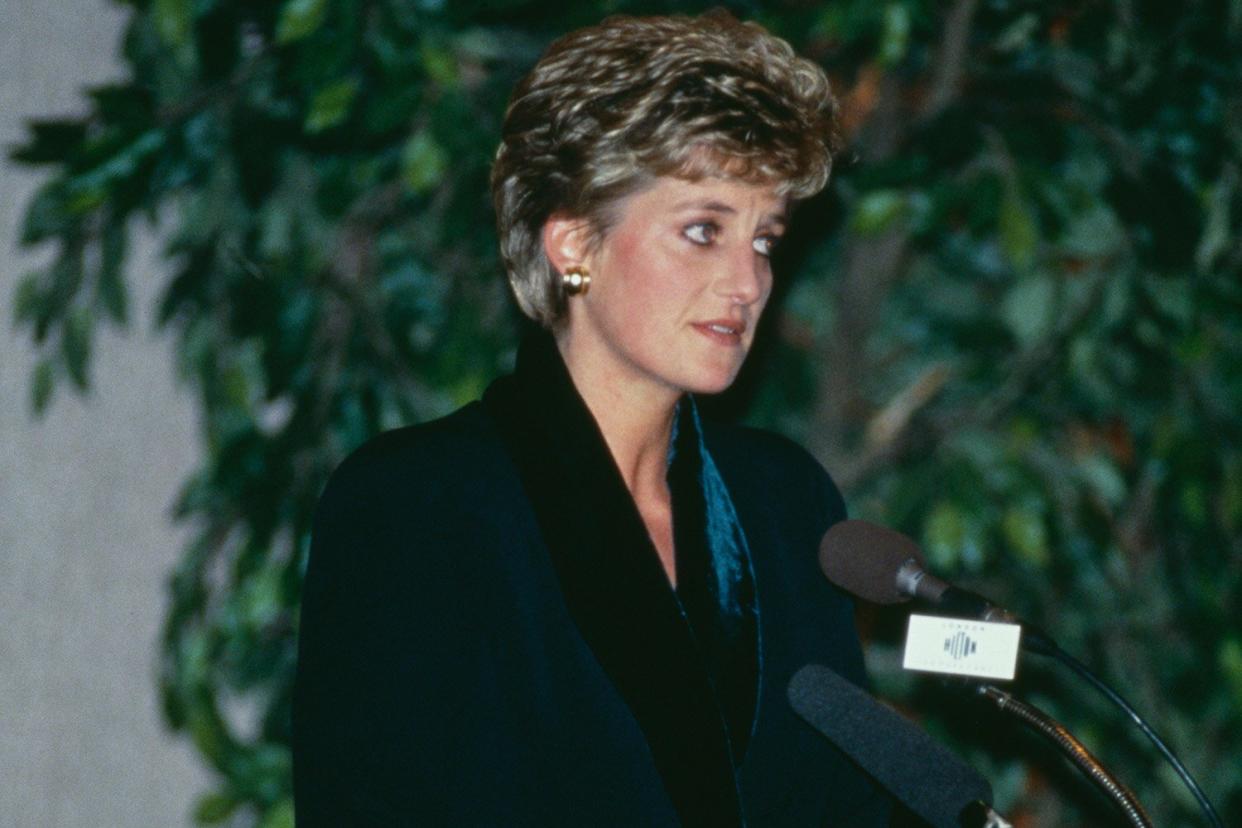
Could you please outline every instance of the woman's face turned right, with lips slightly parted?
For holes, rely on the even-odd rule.
[[[727,389],[771,293],[785,211],[775,186],[724,179],[660,178],[626,197],[584,257],[590,290],[569,303],[571,369],[633,390]]]

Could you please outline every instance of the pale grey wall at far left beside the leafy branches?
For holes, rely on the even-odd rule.
[[[104,0],[0,0],[0,146],[118,76],[123,15]],[[47,256],[16,248],[39,181],[0,161],[0,826],[191,824],[210,778],[164,731],[155,670],[181,544],[168,509],[199,453],[193,400],[150,330],[163,274],[147,238],[128,268],[135,324],[97,340],[94,391],[61,390],[31,420],[34,351],[11,305]]]

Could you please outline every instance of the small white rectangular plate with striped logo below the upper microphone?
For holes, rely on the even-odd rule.
[[[1009,682],[1017,670],[1021,636],[1018,624],[912,613],[902,667]]]

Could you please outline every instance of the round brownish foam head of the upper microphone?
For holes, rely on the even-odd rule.
[[[820,569],[828,580],[873,603],[909,601],[897,587],[897,572],[910,559],[923,567],[918,544],[866,520],[842,520],[820,541]]]

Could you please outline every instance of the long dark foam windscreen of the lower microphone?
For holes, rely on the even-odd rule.
[[[960,828],[975,803],[991,804],[991,786],[956,754],[828,668],[807,664],[795,673],[789,701],[809,725],[935,828]]]

